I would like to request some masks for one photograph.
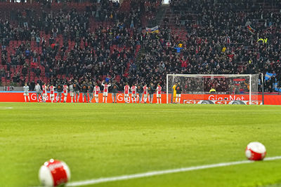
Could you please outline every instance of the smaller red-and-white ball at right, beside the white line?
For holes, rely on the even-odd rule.
[[[266,157],[266,147],[259,142],[251,142],[247,145],[245,154],[249,160],[263,160]]]

